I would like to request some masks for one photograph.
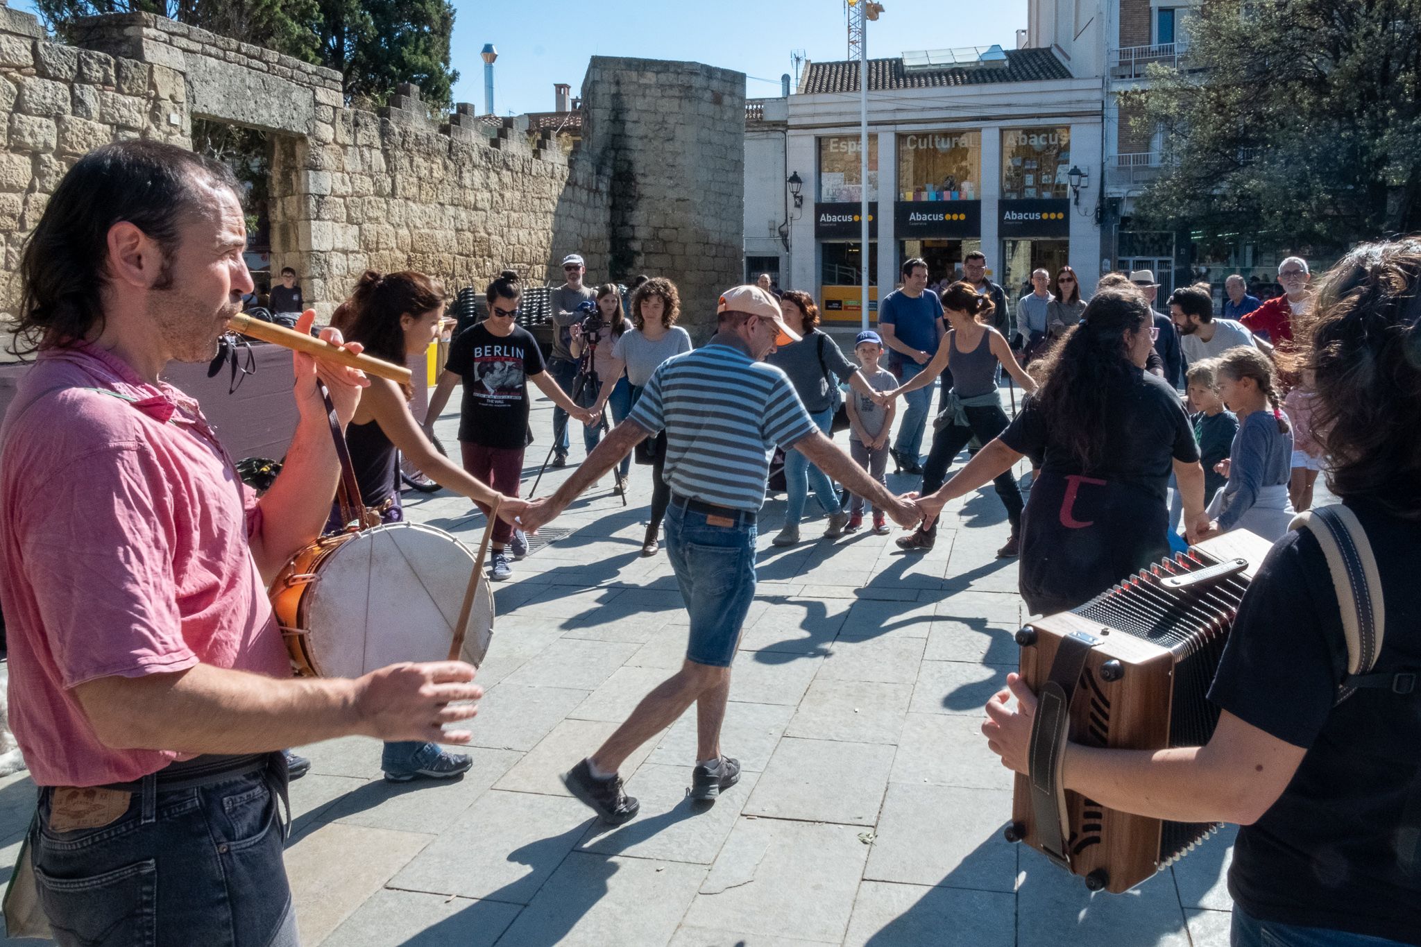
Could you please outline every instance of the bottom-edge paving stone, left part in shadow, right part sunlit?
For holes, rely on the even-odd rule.
[[[706,869],[574,852],[513,921],[510,944],[665,944]]]

